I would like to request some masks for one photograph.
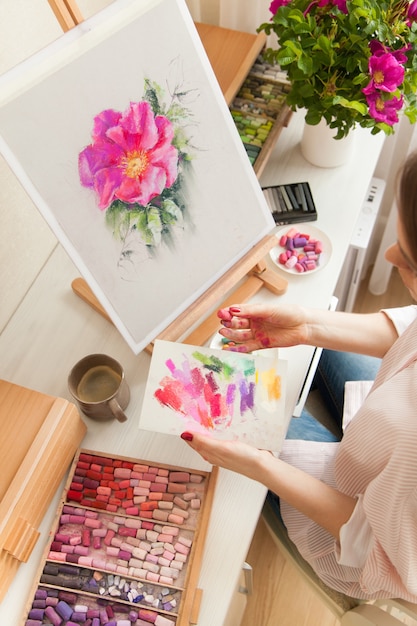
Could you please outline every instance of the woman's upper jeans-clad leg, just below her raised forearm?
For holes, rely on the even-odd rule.
[[[313,385],[320,391],[331,416],[342,427],[345,383],[348,380],[374,380],[381,359],[354,354],[323,350]]]

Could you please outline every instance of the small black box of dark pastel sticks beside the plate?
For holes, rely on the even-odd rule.
[[[310,185],[307,182],[263,187],[265,199],[276,224],[313,222],[317,219]]]

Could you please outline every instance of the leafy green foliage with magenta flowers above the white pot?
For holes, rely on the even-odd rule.
[[[325,120],[341,139],[359,125],[394,132],[403,112],[417,119],[417,0],[273,0],[277,48],[266,60],[287,73],[292,110]]]

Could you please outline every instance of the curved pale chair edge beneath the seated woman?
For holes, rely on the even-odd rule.
[[[342,626],[417,625],[417,604],[391,599],[362,601],[327,587],[301,557],[268,499],[262,510],[262,518],[283,556],[294,565]]]

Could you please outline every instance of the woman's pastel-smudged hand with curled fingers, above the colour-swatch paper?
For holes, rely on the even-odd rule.
[[[297,305],[236,304],[217,313],[226,350],[252,352],[261,348],[307,343],[307,312]]]

